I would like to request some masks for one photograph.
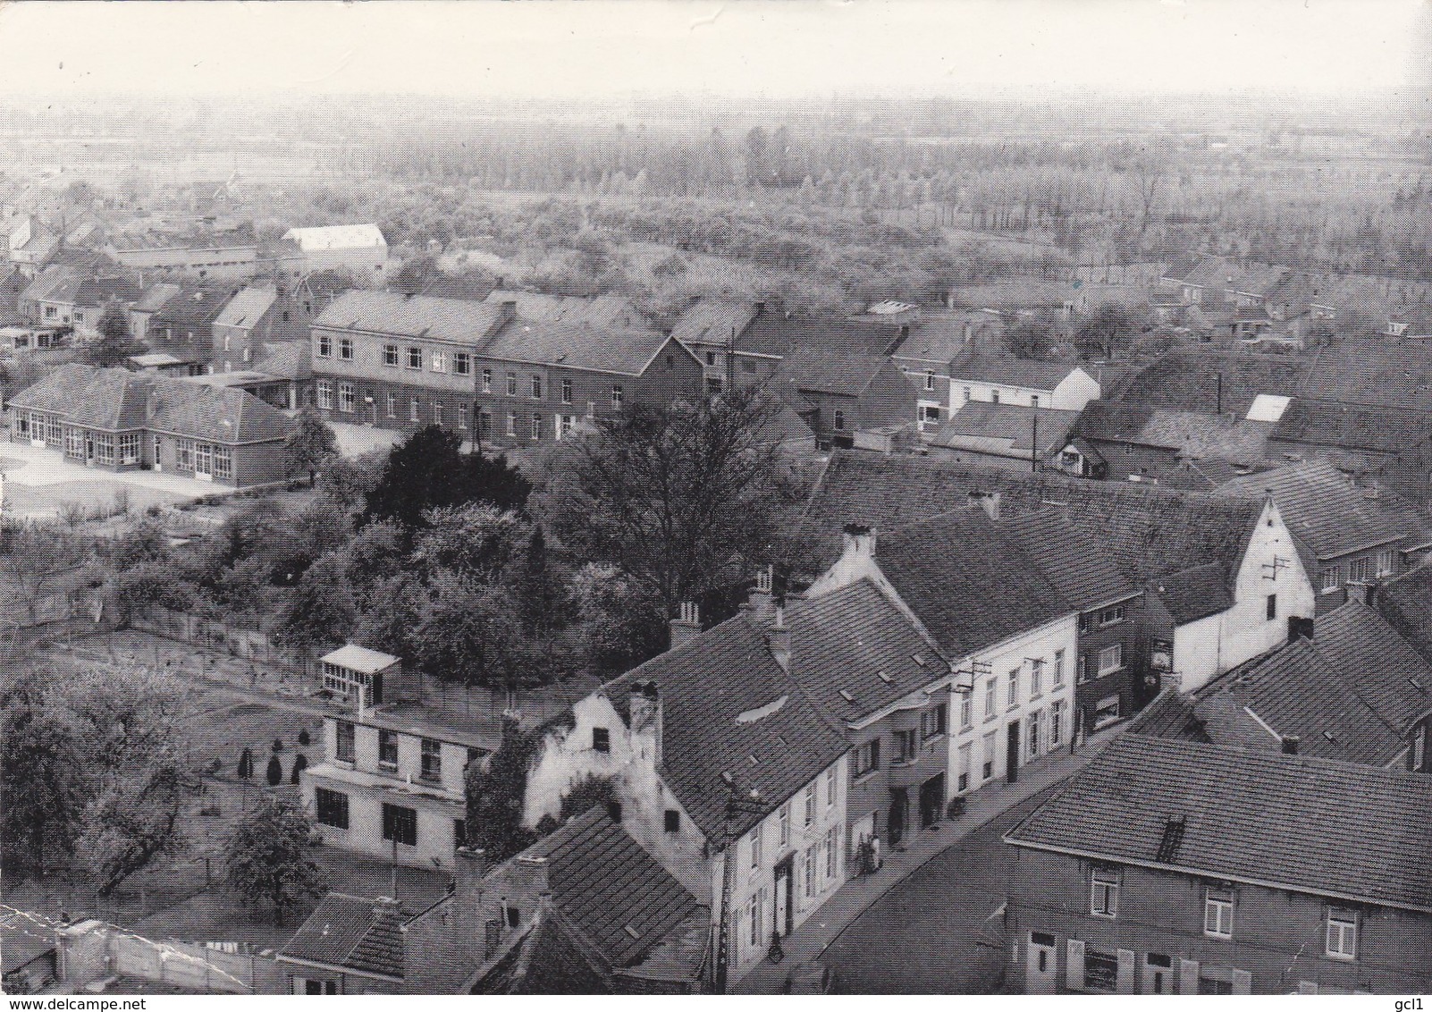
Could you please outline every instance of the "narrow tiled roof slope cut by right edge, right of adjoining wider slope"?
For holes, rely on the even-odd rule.
[[[1432,666],[1360,601],[1319,616],[1313,644],[1398,734],[1432,713]]]

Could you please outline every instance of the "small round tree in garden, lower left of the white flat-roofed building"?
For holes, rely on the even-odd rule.
[[[281,797],[265,797],[229,840],[229,887],[245,903],[269,905],[274,923],[281,926],[288,910],[324,892],[324,876],[308,857],[312,835],[301,809]]]

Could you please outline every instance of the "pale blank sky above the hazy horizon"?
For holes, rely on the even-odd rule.
[[[1425,74],[1429,4],[29,0],[0,3],[0,94],[1356,96]]]

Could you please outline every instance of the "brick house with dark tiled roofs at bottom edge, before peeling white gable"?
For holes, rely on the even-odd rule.
[[[601,807],[488,867],[461,850],[453,890],[404,925],[412,995],[695,993],[710,910]]]

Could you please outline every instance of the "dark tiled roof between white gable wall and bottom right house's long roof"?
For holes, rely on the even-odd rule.
[[[1206,719],[1214,744],[1280,751],[1282,739],[1296,736],[1299,754],[1386,766],[1406,746],[1356,691],[1348,691],[1348,674],[1323,657],[1313,641],[1297,638],[1199,689],[1197,713]],[[1224,740],[1219,724],[1207,720],[1209,703],[1220,696],[1257,724],[1252,734]]]

